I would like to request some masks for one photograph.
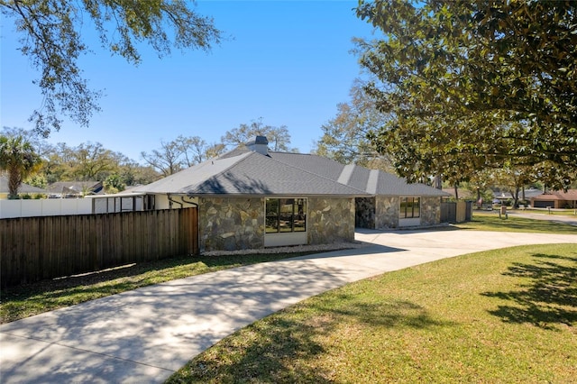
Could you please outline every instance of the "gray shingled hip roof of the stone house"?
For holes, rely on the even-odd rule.
[[[378,169],[343,165],[312,154],[269,151],[262,155],[245,146],[135,191],[189,196],[449,196]]]

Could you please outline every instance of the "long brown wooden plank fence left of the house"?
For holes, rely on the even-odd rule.
[[[0,284],[198,253],[197,208],[0,220]]]

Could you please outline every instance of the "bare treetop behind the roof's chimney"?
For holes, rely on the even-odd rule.
[[[289,149],[290,133],[286,125],[279,127],[264,125],[262,119],[252,121],[250,124],[240,124],[238,128],[224,133],[221,141],[228,146],[238,146],[251,141],[255,136],[265,136],[272,151],[296,151]]]

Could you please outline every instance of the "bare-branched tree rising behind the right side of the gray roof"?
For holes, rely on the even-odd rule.
[[[334,119],[321,126],[323,136],[314,152],[343,164],[358,164],[371,169],[390,169],[389,156],[381,155],[367,139],[367,133],[378,129],[386,120],[372,100],[362,92],[357,80],[351,89],[351,102],[337,105]]]

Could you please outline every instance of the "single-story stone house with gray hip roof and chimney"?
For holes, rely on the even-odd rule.
[[[200,251],[352,242],[354,228],[440,222],[444,192],[316,155],[246,147],[138,188],[155,209],[197,206]],[[136,191],[135,191],[136,192]]]

